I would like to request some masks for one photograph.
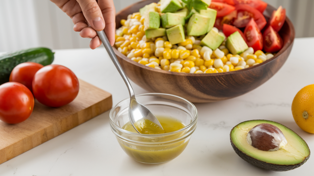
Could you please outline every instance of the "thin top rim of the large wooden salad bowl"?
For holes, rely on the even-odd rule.
[[[143,0],[143,1],[139,1],[137,3],[133,3],[131,4],[130,6],[126,7],[126,8],[123,8],[122,10],[120,10],[118,13],[116,13],[116,16],[120,15],[120,13],[123,13],[123,11],[125,11],[126,9],[129,9],[131,7],[133,7],[134,5],[138,4],[138,3],[142,3],[144,1],[147,1],[147,0]],[[267,4],[267,6],[270,6],[272,8],[274,8],[273,6]],[[276,8],[274,8],[276,9]],[[284,51],[286,51],[290,45],[293,44],[293,41],[295,39],[295,28],[291,22],[291,20],[286,17],[285,19],[285,22],[288,24],[289,28],[290,28],[290,38],[289,40],[284,44],[284,46],[282,47],[281,50],[279,50],[279,52],[273,56],[271,59],[261,63],[261,64],[258,64],[258,65],[255,65],[255,66],[252,66],[252,67],[249,67],[249,68],[245,68],[245,69],[241,69],[241,70],[236,70],[236,71],[232,71],[232,72],[222,72],[222,73],[202,73],[202,74],[195,74],[195,73],[184,73],[184,72],[170,72],[170,71],[165,71],[165,70],[162,70],[162,69],[156,69],[156,68],[152,68],[152,67],[148,67],[148,66],[145,66],[143,64],[140,64],[138,62],[135,62],[135,61],[132,61],[130,58],[128,58],[127,56],[123,55],[121,52],[119,52],[115,47],[112,47],[115,54],[117,56],[119,56],[120,58],[122,58],[124,61],[127,61],[133,65],[136,65],[138,67],[141,67],[143,69],[146,69],[146,70],[150,70],[150,71],[153,71],[153,72],[160,72],[160,73],[165,73],[165,74],[171,74],[171,75],[179,75],[179,76],[196,76],[196,77],[207,77],[207,76],[221,76],[221,75],[231,75],[231,74],[236,74],[236,73],[240,73],[240,72],[246,72],[246,71],[250,71],[252,69],[255,69],[256,67],[260,67],[260,66],[263,66],[263,65],[267,65],[271,62],[273,62],[275,59],[277,59],[282,53],[284,53]]]

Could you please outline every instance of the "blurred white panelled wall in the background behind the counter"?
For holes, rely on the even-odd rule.
[[[116,12],[138,0],[113,0]],[[314,36],[314,0],[264,0],[287,9],[296,37]],[[0,52],[45,46],[88,48],[90,39],[73,31],[72,20],[49,0],[0,0]]]

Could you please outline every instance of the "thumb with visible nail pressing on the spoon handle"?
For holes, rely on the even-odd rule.
[[[95,0],[77,0],[77,2],[88,24],[97,31],[104,30],[105,21],[97,2]]]

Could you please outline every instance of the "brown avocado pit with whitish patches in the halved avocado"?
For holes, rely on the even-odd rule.
[[[253,147],[263,151],[278,151],[288,143],[282,131],[268,123],[254,126],[248,132],[246,140]]]

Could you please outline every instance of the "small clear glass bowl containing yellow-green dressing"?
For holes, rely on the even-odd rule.
[[[122,127],[130,121],[130,98],[124,99],[110,111],[111,130],[124,152],[135,161],[148,164],[165,163],[179,156],[196,128],[196,107],[186,99],[164,93],[141,94],[136,99],[155,116],[181,120],[186,126],[177,131],[154,135],[126,131]]]

